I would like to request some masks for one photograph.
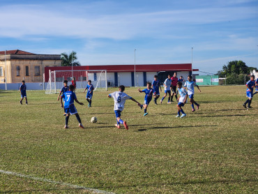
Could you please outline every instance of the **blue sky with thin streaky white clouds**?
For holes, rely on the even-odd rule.
[[[233,60],[258,68],[257,0],[0,0],[0,10],[0,50],[74,50],[82,65],[192,58],[207,73]]]

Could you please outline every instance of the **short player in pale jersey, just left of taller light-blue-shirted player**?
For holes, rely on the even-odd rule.
[[[182,82],[177,82],[177,87],[177,90],[179,91],[179,98],[177,100],[179,101],[179,103],[176,105],[176,107],[178,108],[176,117],[180,117],[180,112],[182,112],[182,116],[180,118],[183,118],[186,116],[186,114],[185,112],[183,112],[182,107],[185,105],[185,103],[187,103],[188,92],[183,89]]]

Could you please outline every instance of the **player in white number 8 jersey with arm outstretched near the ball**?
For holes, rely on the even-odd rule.
[[[142,107],[140,103],[137,102],[134,98],[128,96],[123,91],[125,90],[125,87],[121,85],[119,87],[119,91],[115,91],[112,94],[109,94],[108,98],[114,98],[114,113],[116,114],[116,124],[115,126],[117,128],[120,128],[120,124],[123,124],[126,129],[128,129],[128,125],[126,124],[126,121],[123,121],[121,119],[121,112],[123,111],[123,108],[125,106],[126,100],[130,99],[138,104],[139,107]]]

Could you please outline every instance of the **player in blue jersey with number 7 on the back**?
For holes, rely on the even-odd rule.
[[[68,128],[69,117],[70,117],[70,115],[73,115],[73,114],[75,114],[76,119],[79,122],[79,127],[84,128],[84,126],[82,125],[82,121],[79,118],[79,114],[76,110],[74,101],[76,103],[78,103],[79,105],[84,105],[84,103],[80,103],[77,100],[77,97],[76,97],[75,93],[73,92],[74,90],[75,90],[75,87],[72,84],[70,84],[69,91],[66,91],[61,96],[61,100],[60,100],[61,107],[64,107],[64,110],[66,111],[66,125],[64,126],[64,128]],[[62,98],[63,98],[63,100],[62,100]],[[63,106],[63,101],[64,101],[64,106]]]

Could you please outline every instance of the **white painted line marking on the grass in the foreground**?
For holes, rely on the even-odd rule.
[[[36,180],[36,181],[43,181],[43,182],[47,182],[47,183],[51,183],[51,184],[59,184],[59,185],[68,186],[68,187],[71,187],[71,188],[84,189],[84,190],[87,190],[87,191],[93,191],[95,193],[114,194],[114,193],[110,193],[110,192],[107,192],[107,191],[98,190],[96,188],[87,188],[87,187],[84,187],[84,186],[78,186],[78,185],[74,185],[74,184],[67,184],[67,183],[59,182],[59,181],[52,181],[50,179],[43,179],[43,178],[39,178],[39,177],[33,177],[33,176],[30,176],[30,175],[20,174],[20,173],[17,173],[17,172],[10,172],[10,171],[5,171],[5,170],[0,170],[0,173],[12,174],[12,175],[15,175],[17,177],[24,177],[24,178],[33,179],[33,180]]]

